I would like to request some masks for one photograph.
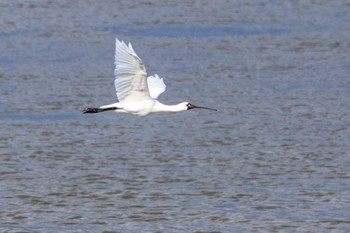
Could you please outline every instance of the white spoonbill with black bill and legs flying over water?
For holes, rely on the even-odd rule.
[[[146,116],[156,112],[181,112],[196,108],[217,111],[214,108],[196,106],[189,102],[175,105],[159,102],[158,96],[166,90],[163,78],[157,74],[147,77],[146,68],[131,43],[127,45],[118,38],[115,40],[114,64],[114,85],[119,102],[98,108],[86,108],[83,113],[114,111]]]

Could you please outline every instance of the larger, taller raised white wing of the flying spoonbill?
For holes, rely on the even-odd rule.
[[[115,41],[115,90],[119,102],[150,99],[147,72],[131,44]]]

